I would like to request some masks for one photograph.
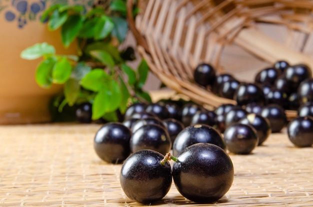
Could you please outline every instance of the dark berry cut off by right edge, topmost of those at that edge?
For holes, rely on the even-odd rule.
[[[313,78],[303,80],[298,86],[297,94],[301,104],[313,101]]]

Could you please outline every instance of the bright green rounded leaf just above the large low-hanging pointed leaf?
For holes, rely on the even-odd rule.
[[[80,84],[82,87],[96,92],[99,91],[109,79],[110,77],[103,69],[93,69],[81,79]]]

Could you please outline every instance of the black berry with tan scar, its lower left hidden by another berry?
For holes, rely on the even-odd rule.
[[[238,123],[250,124],[256,130],[258,144],[261,145],[271,133],[269,120],[261,115],[249,113],[241,118]]]

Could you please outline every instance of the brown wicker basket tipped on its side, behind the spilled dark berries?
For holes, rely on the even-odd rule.
[[[200,62],[245,81],[277,60],[313,68],[312,0],[139,3],[142,12],[136,21],[129,18],[138,52],[165,85],[201,104],[216,107],[235,101],[194,83],[193,69]],[[130,8],[132,0],[127,4]],[[294,111],[287,115],[294,116]]]

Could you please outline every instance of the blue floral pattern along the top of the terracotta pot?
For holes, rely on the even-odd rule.
[[[23,28],[28,21],[40,21],[46,7],[55,3],[83,5],[85,10],[94,0],[0,0],[0,18]]]

